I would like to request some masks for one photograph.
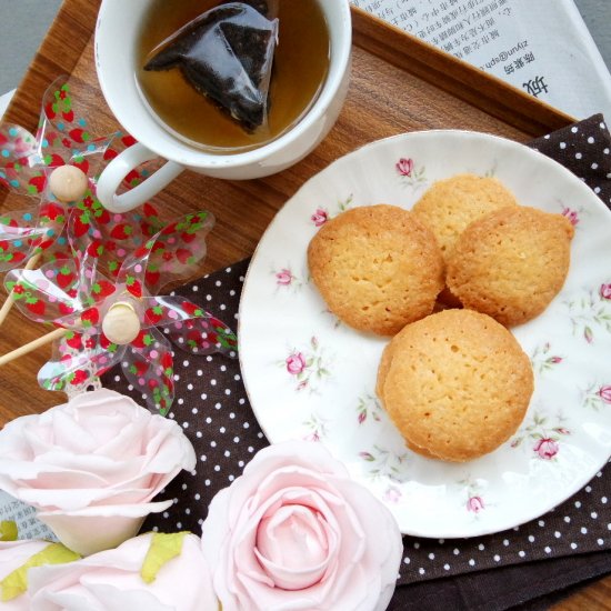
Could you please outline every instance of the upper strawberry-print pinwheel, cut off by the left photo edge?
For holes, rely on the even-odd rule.
[[[12,199],[24,200],[0,213],[0,271],[51,247],[56,258],[70,256],[62,234],[69,210],[101,214],[94,181],[112,138],[91,136],[62,80],[44,94],[36,136],[0,124],[0,184],[12,191]]]

